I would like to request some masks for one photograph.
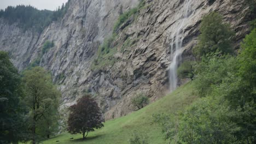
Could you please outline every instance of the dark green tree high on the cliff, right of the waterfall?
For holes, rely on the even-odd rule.
[[[194,47],[196,58],[210,52],[231,53],[231,40],[235,33],[230,25],[223,23],[223,17],[218,13],[211,13],[203,17],[200,26],[199,43]]]

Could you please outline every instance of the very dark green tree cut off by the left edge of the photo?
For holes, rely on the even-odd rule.
[[[7,52],[0,51],[0,143],[25,140],[25,111],[20,104],[23,95],[20,75]]]

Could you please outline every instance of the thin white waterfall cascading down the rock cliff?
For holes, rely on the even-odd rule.
[[[183,33],[184,29],[181,31],[181,29],[184,26],[184,23],[186,22],[187,18],[189,17],[189,14],[191,14],[190,10],[190,3],[191,0],[185,0],[184,10],[183,10],[183,17],[181,19],[181,22],[178,22],[178,28],[177,31],[173,33],[172,35],[172,43],[171,43],[171,59],[172,62],[169,66],[169,83],[170,83],[170,91],[174,91],[177,87],[178,83],[178,76],[177,76],[177,69],[178,64],[182,60],[181,55],[183,52],[182,49],[182,43],[183,43]],[[175,45],[175,49],[174,49]]]

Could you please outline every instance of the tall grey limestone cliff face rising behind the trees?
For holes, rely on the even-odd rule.
[[[112,33],[121,5],[127,10],[135,7],[137,0],[73,0],[65,17],[41,34],[23,32],[0,20],[0,50],[9,51],[22,70],[38,57],[46,40],[53,40],[55,46],[43,55],[40,65],[50,70],[60,85],[63,106],[90,92],[96,95],[106,119],[123,116],[130,112],[130,100],[136,93],[144,93],[152,101],[168,93],[170,46],[181,23],[183,59],[193,59],[191,49],[197,42],[200,21],[210,11],[218,11],[231,23],[236,41],[248,33],[247,0],[186,3],[188,0],[147,0],[138,16],[130,18],[135,20],[128,20],[118,31],[114,40],[117,61],[100,70],[90,69],[98,46]],[[188,9],[185,20],[184,9]]]

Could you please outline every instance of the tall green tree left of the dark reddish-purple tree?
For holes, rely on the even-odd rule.
[[[29,109],[29,129],[32,142],[49,137],[57,130],[60,92],[53,85],[51,75],[41,67],[24,72],[25,102]]]

